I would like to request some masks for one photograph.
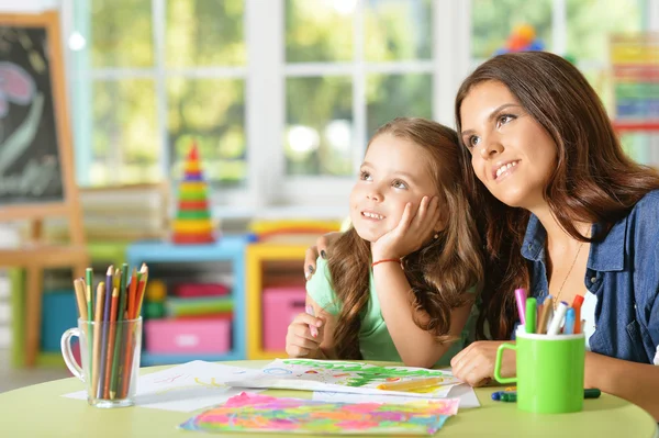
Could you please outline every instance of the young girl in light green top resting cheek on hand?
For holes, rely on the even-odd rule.
[[[291,357],[429,368],[461,338],[482,267],[460,159],[455,131],[435,122],[378,130],[350,194],[351,228],[317,260],[311,308],[289,326]]]

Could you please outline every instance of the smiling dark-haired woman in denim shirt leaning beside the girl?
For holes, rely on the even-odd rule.
[[[481,334],[489,323],[494,339],[511,336],[515,288],[549,305],[582,295],[587,388],[659,419],[657,171],[627,158],[585,78],[549,53],[485,61],[462,82],[456,117],[480,181],[469,192],[482,206],[487,263],[506,260],[485,276]],[[471,344],[454,373],[487,381],[500,344]],[[513,355],[502,373],[515,373]]]

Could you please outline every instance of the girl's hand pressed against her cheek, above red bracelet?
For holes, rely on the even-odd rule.
[[[423,196],[413,214],[407,203],[399,224],[371,245],[373,261],[401,258],[414,252],[435,233],[439,220],[437,196]]]

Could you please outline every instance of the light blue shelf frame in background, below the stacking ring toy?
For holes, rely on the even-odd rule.
[[[148,265],[149,283],[155,279],[170,279],[172,271],[178,279],[198,277],[203,269],[225,269],[233,281],[231,296],[233,317],[231,323],[231,348],[224,353],[154,353],[146,349],[142,352],[143,366],[182,363],[191,360],[227,361],[242,360],[246,356],[245,341],[245,247],[249,242],[247,235],[226,235],[217,242],[204,245],[175,245],[165,242],[136,243],[127,248],[127,260],[133,267],[143,262]],[[187,267],[187,268],[186,268]],[[148,285],[147,285],[148,289]],[[145,305],[146,297],[145,297]],[[144,311],[144,308],[143,308]],[[144,313],[144,312],[143,312]],[[146,322],[145,322],[146,323]],[[144,336],[143,344],[148,344]]]

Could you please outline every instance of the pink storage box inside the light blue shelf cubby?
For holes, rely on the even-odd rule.
[[[144,324],[152,353],[223,353],[231,349],[230,319],[152,319]]]

